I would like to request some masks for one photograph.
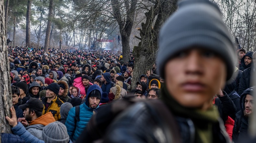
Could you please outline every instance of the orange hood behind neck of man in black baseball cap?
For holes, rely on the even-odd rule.
[[[48,113],[42,115],[41,117],[31,121],[29,123],[29,125],[41,124],[41,125],[46,126],[46,125],[48,125],[48,124],[50,124],[52,122],[55,122],[55,119],[52,116],[52,112],[48,112]]]

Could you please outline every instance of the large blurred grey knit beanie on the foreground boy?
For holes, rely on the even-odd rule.
[[[164,78],[166,62],[178,52],[198,47],[215,52],[227,67],[227,80],[235,67],[235,49],[222,21],[218,6],[209,0],[183,0],[170,16],[159,35],[158,73]]]

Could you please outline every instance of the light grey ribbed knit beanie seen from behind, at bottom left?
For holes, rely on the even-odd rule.
[[[69,135],[66,126],[55,121],[43,128],[42,138],[45,143],[68,143]]]

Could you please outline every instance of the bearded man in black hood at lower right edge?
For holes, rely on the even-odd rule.
[[[233,128],[232,140],[237,143],[248,137],[248,119],[253,109],[253,90],[250,87],[241,94],[240,107],[241,110],[236,114],[235,124]]]

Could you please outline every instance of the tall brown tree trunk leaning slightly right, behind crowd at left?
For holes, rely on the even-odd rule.
[[[52,23],[52,5],[53,5],[53,0],[50,0],[48,22],[47,22],[46,33],[45,33],[45,41],[44,41],[44,52],[48,52],[48,48],[49,48],[50,31],[51,31],[51,23]]]

